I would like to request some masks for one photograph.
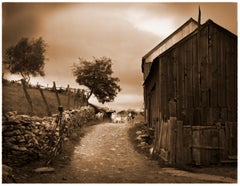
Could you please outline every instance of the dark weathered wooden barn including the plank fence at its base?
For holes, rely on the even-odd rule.
[[[237,161],[237,36],[189,19],[142,58],[145,119],[168,164]]]

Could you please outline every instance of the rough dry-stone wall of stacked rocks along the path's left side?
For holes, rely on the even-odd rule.
[[[64,140],[85,123],[94,120],[94,109],[89,106],[79,110],[64,111]],[[2,161],[9,166],[20,166],[33,160],[43,159],[56,143],[59,127],[54,130],[58,115],[37,117],[9,112],[2,118]]]

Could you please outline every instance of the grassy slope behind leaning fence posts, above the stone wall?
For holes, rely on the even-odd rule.
[[[28,93],[33,103],[34,115],[46,116],[46,106],[42,100],[41,94],[36,88],[28,88]],[[48,102],[52,114],[58,112],[58,102],[53,91],[43,90],[44,96]],[[67,108],[67,94],[59,94],[61,104],[64,109]],[[70,98],[70,108],[74,108],[74,97]],[[25,97],[21,84],[7,84],[2,87],[2,112],[17,111],[19,114],[31,115],[32,111]]]

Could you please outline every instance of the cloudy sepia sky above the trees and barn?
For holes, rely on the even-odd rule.
[[[78,88],[72,66],[78,58],[106,56],[122,91],[111,109],[143,108],[142,57],[189,18],[211,19],[237,35],[237,3],[230,2],[72,2],[2,3],[2,53],[22,37],[47,43],[45,77],[31,83]],[[20,79],[2,67],[5,78]]]

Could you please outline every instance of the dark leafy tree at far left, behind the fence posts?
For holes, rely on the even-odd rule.
[[[29,83],[30,75],[44,76],[46,44],[40,37],[22,38],[15,46],[6,49],[3,63],[12,74],[20,74]]]

